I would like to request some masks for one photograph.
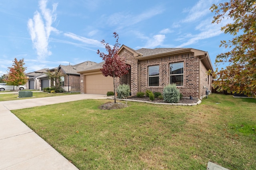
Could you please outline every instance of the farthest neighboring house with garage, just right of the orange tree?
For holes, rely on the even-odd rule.
[[[29,72],[26,73],[25,75],[28,78],[28,82],[25,84],[27,89],[35,89],[35,90],[40,90],[40,82],[39,78],[42,75],[45,75],[44,72],[46,72],[48,69],[44,68],[42,70],[37,70],[34,72]]]

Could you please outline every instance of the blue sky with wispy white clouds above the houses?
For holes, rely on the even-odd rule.
[[[220,0],[1,0],[0,76],[14,58],[26,72],[84,61],[100,63],[100,41],[132,49],[194,48],[208,51],[214,66],[230,39],[212,24],[210,6]],[[216,68],[214,66],[214,68]]]

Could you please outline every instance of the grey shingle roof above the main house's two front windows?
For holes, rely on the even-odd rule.
[[[136,50],[137,53],[142,54],[142,57],[147,57],[151,55],[157,55],[157,54],[163,54],[163,53],[169,53],[172,51],[178,51],[182,49],[188,49],[188,48],[155,48],[155,49],[138,49]]]

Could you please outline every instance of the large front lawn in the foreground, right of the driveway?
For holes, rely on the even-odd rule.
[[[256,169],[256,99],[211,94],[199,106],[81,100],[13,110],[80,170]]]

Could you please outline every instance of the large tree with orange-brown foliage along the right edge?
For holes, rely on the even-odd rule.
[[[230,48],[226,53],[216,57],[215,64],[230,63],[226,68],[216,70],[216,81],[213,86],[218,91],[244,92],[256,96],[256,1],[229,0],[213,4],[215,12],[212,23],[220,23],[229,18],[221,28],[224,33],[233,35],[232,40],[221,41],[220,47]]]

